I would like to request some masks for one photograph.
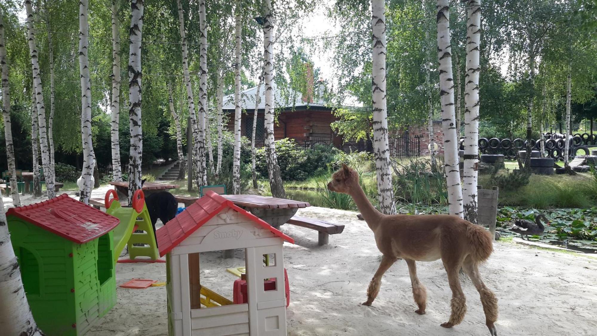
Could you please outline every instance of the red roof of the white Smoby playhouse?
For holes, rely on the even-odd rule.
[[[241,209],[234,205],[232,201],[229,201],[210,190],[205,196],[186,207],[183,212],[171,219],[166,225],[156,230],[159,255],[164,256],[166,253],[172,251],[173,248],[200,228],[201,225],[207,223],[213,216],[216,216],[225,209],[235,210],[236,212],[247,216],[247,218],[251,219],[255,224],[269,230],[276,236],[287,242],[294,243],[294,239],[272,227],[272,225],[267,224],[263,219],[253,215],[253,213]]]

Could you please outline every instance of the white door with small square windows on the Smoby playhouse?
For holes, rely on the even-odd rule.
[[[264,264],[264,255],[269,256],[269,265]],[[247,249],[249,306],[256,308],[256,313],[250,311],[251,336],[287,334],[282,260],[282,244]],[[269,282],[275,281],[275,288],[268,286],[266,290],[264,279],[268,279]],[[256,285],[252,286],[251,283]]]

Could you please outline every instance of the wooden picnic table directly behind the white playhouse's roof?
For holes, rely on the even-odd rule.
[[[311,206],[303,201],[259,195],[222,195],[222,197],[233,201],[236,206],[253,213],[275,228],[279,228],[292,218],[298,208]]]

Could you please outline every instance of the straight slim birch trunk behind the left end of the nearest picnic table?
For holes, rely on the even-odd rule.
[[[241,193],[241,4],[236,3],[234,63],[234,155],[232,159],[232,192]]]

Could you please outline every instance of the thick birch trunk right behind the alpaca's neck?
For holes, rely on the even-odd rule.
[[[373,23],[373,153],[376,160],[377,193],[382,213],[396,213],[392,188],[386,108],[386,14],[384,0],[371,1]]]

